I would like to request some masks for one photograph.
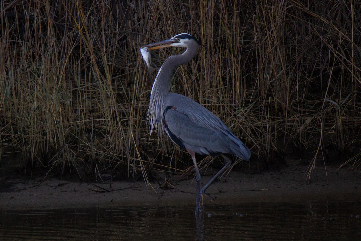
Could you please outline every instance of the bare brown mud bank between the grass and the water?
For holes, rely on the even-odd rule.
[[[243,173],[231,171],[226,178],[214,182],[204,198],[211,204],[260,202],[361,201],[360,171],[317,167],[308,183],[305,166],[286,167],[281,171]],[[203,176],[208,181],[213,170]],[[327,174],[327,176],[326,176]],[[144,182],[113,181],[69,182],[50,179],[43,182],[5,178],[0,188],[1,210],[40,210],[79,207],[192,206],[195,202],[195,181],[171,182],[173,189],[156,191]]]

